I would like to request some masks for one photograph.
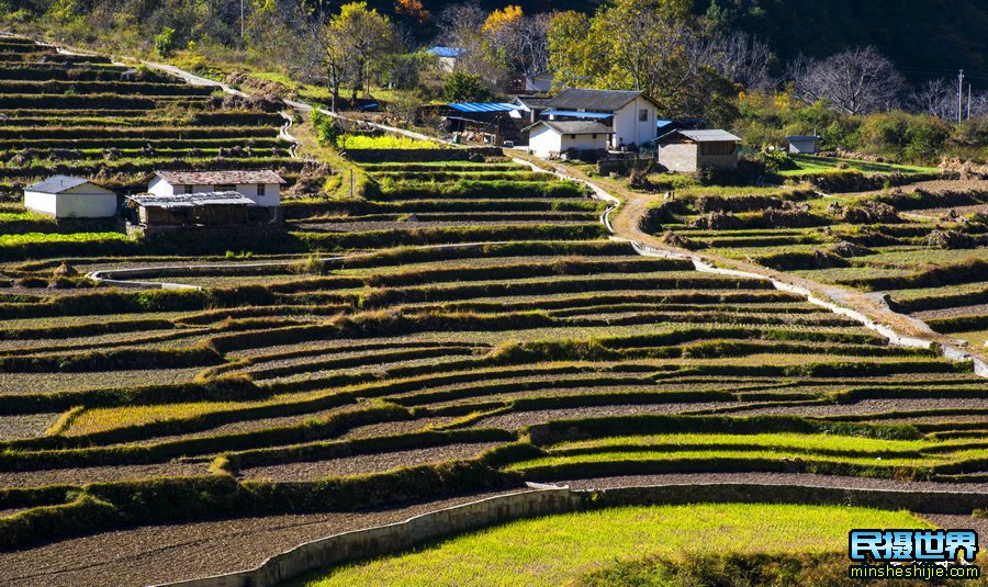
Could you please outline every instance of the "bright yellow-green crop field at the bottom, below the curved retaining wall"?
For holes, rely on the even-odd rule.
[[[927,528],[908,512],[694,505],[512,522],[290,585],[565,585],[608,564],[704,553],[841,552],[853,528]]]

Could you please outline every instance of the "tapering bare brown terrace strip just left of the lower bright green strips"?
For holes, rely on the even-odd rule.
[[[356,456],[329,459],[326,461],[245,469],[240,471],[240,474],[250,479],[267,478],[276,482],[316,481],[329,476],[363,475],[404,466],[471,459],[485,450],[502,444],[502,442],[475,442],[378,454],[358,454]]]

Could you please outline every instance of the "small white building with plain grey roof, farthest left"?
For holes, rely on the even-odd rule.
[[[116,194],[82,178],[52,176],[24,188],[24,207],[55,218],[112,218]]]

